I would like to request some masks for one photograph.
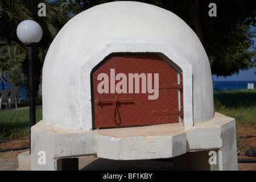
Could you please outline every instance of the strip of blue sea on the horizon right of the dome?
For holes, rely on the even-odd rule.
[[[212,81],[213,90],[238,90],[238,89],[247,89],[248,83],[253,83],[256,87],[256,81]]]

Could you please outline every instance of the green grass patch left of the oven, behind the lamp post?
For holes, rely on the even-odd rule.
[[[29,108],[0,111],[0,140],[28,137],[30,132]],[[42,120],[42,106],[36,107],[36,122]]]

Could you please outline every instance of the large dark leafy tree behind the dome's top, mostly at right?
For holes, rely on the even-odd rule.
[[[76,15],[102,0],[71,0],[64,2],[68,15]],[[172,11],[194,30],[208,54],[213,75],[230,76],[240,69],[254,66],[256,1],[224,0],[149,0],[150,3]],[[216,15],[209,16],[209,5],[216,5]]]

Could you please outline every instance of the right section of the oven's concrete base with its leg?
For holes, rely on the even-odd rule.
[[[209,163],[209,158],[214,155],[216,164],[210,165],[210,170],[238,170],[235,119],[215,113],[210,121],[185,127],[184,131],[187,133],[187,152],[195,152],[193,155],[188,154],[191,156],[189,158],[197,158],[198,155],[202,161],[208,158]],[[203,159],[203,155],[198,151],[208,151],[207,157]],[[210,151],[216,153],[209,153]],[[189,160],[188,165],[192,166]]]

